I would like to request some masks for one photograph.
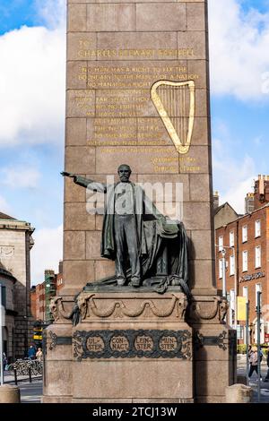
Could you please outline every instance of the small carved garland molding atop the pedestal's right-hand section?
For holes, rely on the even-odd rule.
[[[191,322],[223,322],[228,309],[227,300],[221,296],[194,298],[189,305],[187,319]]]

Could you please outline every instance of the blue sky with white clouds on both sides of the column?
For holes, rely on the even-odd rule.
[[[243,211],[269,174],[269,0],[209,0],[209,17],[213,185]],[[62,250],[65,0],[0,0],[0,61],[0,211],[36,228],[36,283]]]

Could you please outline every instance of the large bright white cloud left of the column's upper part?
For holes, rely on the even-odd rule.
[[[0,145],[63,142],[65,30],[7,32],[0,62]]]

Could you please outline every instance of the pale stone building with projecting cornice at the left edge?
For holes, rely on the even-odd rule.
[[[7,356],[12,360],[25,357],[30,344],[30,249],[33,231],[30,223],[0,212],[0,280],[5,284],[7,294],[4,337]]]

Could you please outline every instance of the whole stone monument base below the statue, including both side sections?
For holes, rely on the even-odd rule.
[[[235,382],[234,331],[220,296],[173,287],[87,291],[56,297],[47,329],[44,403],[225,402]],[[187,320],[187,322],[186,322]]]

